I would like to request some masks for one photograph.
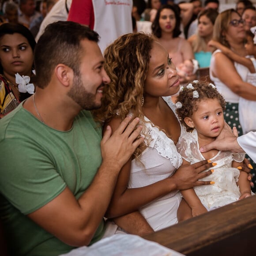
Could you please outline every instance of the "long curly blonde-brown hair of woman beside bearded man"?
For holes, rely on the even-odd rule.
[[[105,70],[111,81],[104,87],[102,107],[94,111],[96,120],[108,123],[117,115],[124,120],[132,113],[140,118],[141,124],[145,122],[142,98],[153,41],[151,35],[131,33],[120,36],[105,49]],[[136,149],[136,159],[145,148],[141,144]]]

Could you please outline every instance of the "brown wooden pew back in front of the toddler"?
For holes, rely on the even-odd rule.
[[[255,256],[256,195],[144,238],[187,256]]]

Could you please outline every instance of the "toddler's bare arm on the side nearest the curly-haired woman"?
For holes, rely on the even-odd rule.
[[[183,159],[182,165],[190,164],[186,160]],[[207,212],[207,209],[203,206],[200,199],[196,195],[196,192],[193,188],[181,190],[181,195],[184,197],[189,207],[192,209],[192,217],[203,214]]]

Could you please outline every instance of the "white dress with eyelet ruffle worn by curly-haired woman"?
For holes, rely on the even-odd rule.
[[[175,113],[175,105],[170,97],[163,99]],[[150,121],[147,117],[145,120]],[[129,188],[140,188],[161,181],[171,176],[182,163],[181,155],[177,152],[173,141],[151,122],[146,125],[151,141],[140,158],[145,167],[135,159],[132,160]],[[180,202],[180,192],[173,191],[142,207],[140,212],[155,231],[161,230],[177,223],[177,209]]]

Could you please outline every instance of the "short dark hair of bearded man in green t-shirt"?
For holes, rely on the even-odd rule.
[[[87,26],[72,21],[58,21],[49,24],[41,35],[34,52],[36,85],[46,87],[58,64],[72,68],[79,75],[82,47],[80,41],[99,41],[99,35]]]

